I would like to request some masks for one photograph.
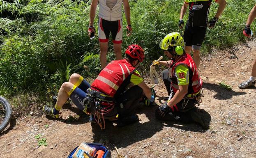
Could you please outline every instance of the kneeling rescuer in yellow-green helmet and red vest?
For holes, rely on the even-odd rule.
[[[155,111],[157,119],[190,123],[196,121],[207,128],[196,104],[201,97],[202,80],[191,56],[184,51],[184,41],[178,32],[167,34],[160,42],[160,48],[170,59],[159,64],[168,67],[163,80],[169,94],[168,101]],[[171,73],[171,78],[168,75]]]

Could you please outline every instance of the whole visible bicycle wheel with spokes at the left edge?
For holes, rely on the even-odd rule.
[[[9,102],[0,96],[0,133],[5,130],[11,121],[12,108]]]

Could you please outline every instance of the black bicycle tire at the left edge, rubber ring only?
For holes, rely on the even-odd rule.
[[[12,117],[12,108],[9,102],[0,96],[0,104],[2,104],[5,108],[6,114],[5,114],[5,119],[4,121],[0,124],[0,133],[5,130],[5,128],[8,126],[9,122],[11,121]],[[0,106],[2,106],[0,105]]]

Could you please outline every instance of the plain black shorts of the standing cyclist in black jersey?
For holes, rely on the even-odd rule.
[[[192,46],[192,49],[200,50],[205,38],[206,27],[185,26],[184,41],[185,46]]]

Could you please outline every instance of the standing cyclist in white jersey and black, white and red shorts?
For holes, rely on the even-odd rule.
[[[90,23],[88,35],[95,34],[93,21],[96,14],[97,5],[99,4],[99,47],[100,47],[100,64],[101,69],[106,66],[108,53],[108,39],[111,33],[116,60],[122,59],[122,4],[124,5],[125,17],[127,21],[127,36],[131,35],[130,6],[128,0],[92,0],[90,7]]]

